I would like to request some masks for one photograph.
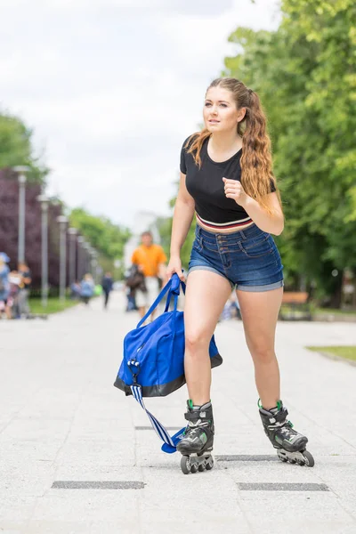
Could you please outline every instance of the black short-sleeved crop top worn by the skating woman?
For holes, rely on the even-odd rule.
[[[223,177],[241,182],[240,158],[242,149],[231,156],[230,159],[217,163],[207,153],[207,139],[200,151],[200,169],[195,163],[193,155],[187,154],[184,148],[188,139],[182,146],[181,172],[186,174],[186,188],[195,200],[195,209],[203,223],[226,224],[250,221],[247,212],[239,206],[233,198],[226,198],[224,193]],[[275,191],[271,182],[271,192]]]

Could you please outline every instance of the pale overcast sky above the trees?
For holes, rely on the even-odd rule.
[[[0,0],[0,108],[35,131],[49,194],[130,226],[169,214],[182,142],[238,26],[277,0]]]

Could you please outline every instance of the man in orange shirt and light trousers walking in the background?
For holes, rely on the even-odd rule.
[[[165,279],[166,277],[167,259],[163,248],[153,243],[150,231],[144,231],[141,240],[142,244],[134,250],[131,261],[138,266],[145,277],[147,291],[137,289],[135,294],[136,306],[140,317],[143,317],[158,296],[158,278]],[[153,319],[153,313],[151,317]]]

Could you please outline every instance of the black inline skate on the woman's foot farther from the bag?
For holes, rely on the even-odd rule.
[[[282,401],[278,401],[277,407],[272,409],[263,409],[260,403],[258,406],[264,432],[277,449],[279,459],[282,462],[312,467],[314,458],[305,450],[308,438],[293,430],[292,423],[287,420],[288,410]]]

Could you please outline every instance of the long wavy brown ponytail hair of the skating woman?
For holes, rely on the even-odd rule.
[[[242,137],[241,184],[252,198],[271,214],[267,203],[267,195],[274,184],[281,205],[281,198],[272,171],[271,140],[267,133],[267,119],[263,112],[260,99],[254,91],[236,78],[216,78],[207,88],[222,87],[233,95],[237,109],[246,108],[245,117],[239,122],[237,132]],[[203,128],[201,132],[190,135],[185,148],[193,155],[198,166],[201,166],[200,150],[211,133]]]

